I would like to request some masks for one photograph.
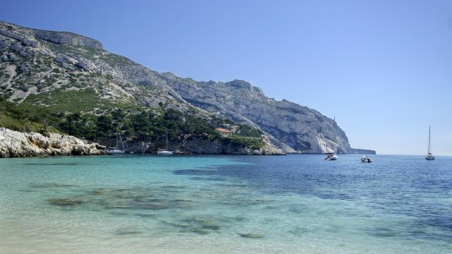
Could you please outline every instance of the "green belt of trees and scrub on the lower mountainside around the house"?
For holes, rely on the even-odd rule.
[[[168,132],[172,143],[205,139],[253,149],[265,146],[260,131],[242,124],[237,126],[229,119],[218,116],[204,119],[163,107],[148,109],[112,104],[98,99],[90,88],[30,95],[19,105],[0,99],[0,126],[15,131],[67,133],[100,143],[120,132],[128,140],[150,141],[163,146]],[[222,137],[215,131],[221,126],[234,126],[237,131],[231,137]]]

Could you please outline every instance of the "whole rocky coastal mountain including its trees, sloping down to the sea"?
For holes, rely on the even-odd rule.
[[[156,152],[168,133],[169,147],[180,153],[375,154],[350,147],[345,132],[319,111],[270,99],[244,80],[179,78],[109,53],[83,35],[4,21],[0,96],[1,133],[10,137],[1,143],[1,157],[102,154],[116,133],[124,136],[126,152]],[[30,144],[11,138],[19,135],[13,131],[52,137],[56,147],[23,134],[44,150],[26,152]],[[81,148],[55,152],[69,135]],[[18,144],[25,152],[13,152]]]

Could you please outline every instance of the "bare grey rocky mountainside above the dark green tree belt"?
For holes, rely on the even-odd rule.
[[[78,104],[64,101],[83,91]],[[261,130],[268,151],[355,151],[344,131],[319,111],[266,97],[243,80],[200,82],[158,73],[105,51],[97,40],[71,32],[0,22],[0,94],[16,104],[61,113],[76,107],[83,114],[99,116],[112,108],[147,107],[177,109],[205,119],[213,114]]]

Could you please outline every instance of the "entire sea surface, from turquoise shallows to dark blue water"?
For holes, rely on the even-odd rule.
[[[452,158],[1,159],[0,253],[452,253]]]

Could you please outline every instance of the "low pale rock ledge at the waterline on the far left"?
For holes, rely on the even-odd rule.
[[[55,155],[105,155],[106,147],[71,135],[21,133],[0,127],[0,158]]]

